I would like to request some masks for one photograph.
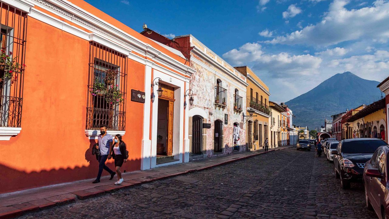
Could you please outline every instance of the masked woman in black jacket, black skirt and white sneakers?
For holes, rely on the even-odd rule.
[[[115,160],[115,168],[117,173],[117,182],[115,182],[115,185],[120,185],[124,181],[121,175],[120,167],[123,165],[123,162],[127,162],[128,151],[126,150],[126,143],[124,143],[120,134],[115,136],[114,141],[115,143],[112,150],[112,157]]]

